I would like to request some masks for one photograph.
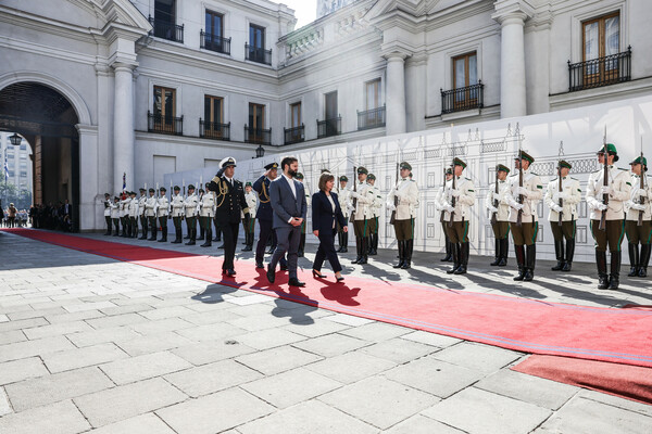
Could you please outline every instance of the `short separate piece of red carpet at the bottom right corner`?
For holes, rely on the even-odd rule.
[[[530,356],[512,370],[652,404],[652,369],[650,368],[568,357]]]

